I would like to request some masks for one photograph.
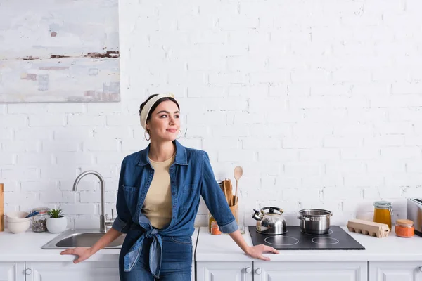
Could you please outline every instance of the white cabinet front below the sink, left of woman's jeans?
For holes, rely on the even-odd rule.
[[[119,279],[117,261],[27,262],[26,281],[115,281]]]

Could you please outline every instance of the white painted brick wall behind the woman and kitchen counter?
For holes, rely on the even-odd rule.
[[[0,105],[6,211],[61,206],[98,227],[124,155],[144,148],[151,93],[181,105],[181,143],[206,150],[217,178],[244,167],[245,209],[276,204],[333,221],[374,200],[422,196],[421,1],[120,1],[121,103]],[[200,214],[205,211],[201,206]],[[249,214],[247,214],[249,217]],[[203,216],[201,216],[202,220]]]

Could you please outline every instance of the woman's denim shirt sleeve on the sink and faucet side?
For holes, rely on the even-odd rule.
[[[132,226],[132,216],[130,214],[129,208],[127,207],[126,200],[124,199],[124,190],[123,190],[123,177],[124,177],[124,159],[122,161],[122,167],[120,169],[119,176],[119,189],[117,190],[117,204],[116,211],[117,217],[113,222],[112,228],[120,231],[121,233],[127,233],[130,226]]]

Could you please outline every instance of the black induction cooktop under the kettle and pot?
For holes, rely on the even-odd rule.
[[[267,235],[257,233],[255,226],[249,226],[250,237],[255,245],[264,244],[278,250],[364,250],[340,226],[331,226],[328,234],[312,235],[302,233],[300,226],[287,226],[287,233]]]

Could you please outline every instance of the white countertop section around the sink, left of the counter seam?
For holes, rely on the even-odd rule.
[[[2,261],[73,261],[73,255],[60,255],[63,249],[41,249],[59,234],[34,233],[28,230],[25,233],[13,234],[8,230],[0,232],[0,262]],[[195,249],[198,228],[192,235],[193,249]],[[120,249],[102,249],[91,256],[87,261],[117,261]]]

